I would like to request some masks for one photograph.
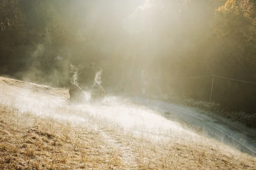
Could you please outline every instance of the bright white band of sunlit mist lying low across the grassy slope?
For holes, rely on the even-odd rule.
[[[134,104],[130,99],[108,96],[101,103],[85,103],[81,105],[65,102],[67,92],[64,89],[50,88],[27,84],[5,79],[0,83],[0,103],[17,112],[19,116],[30,112],[38,118],[52,118],[58,121],[70,122],[73,125],[90,124],[99,130],[116,129],[124,134],[131,134],[138,138],[148,139],[152,142],[204,141],[211,143],[210,139],[199,136],[191,130],[185,130],[179,123],[160,116],[152,109]],[[15,82],[15,86],[8,83]],[[20,87],[23,87],[21,90]],[[56,93],[58,93],[56,95]],[[89,93],[85,93],[87,97]],[[232,150],[232,152],[238,152]]]

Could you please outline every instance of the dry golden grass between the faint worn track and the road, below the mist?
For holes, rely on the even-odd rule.
[[[121,127],[115,129],[108,131],[109,135],[132,149],[138,170],[256,170],[255,157],[214,139],[186,141],[187,136],[175,136],[154,141],[148,134],[138,137],[132,132],[120,133]]]

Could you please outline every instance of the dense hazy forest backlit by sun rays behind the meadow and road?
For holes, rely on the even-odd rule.
[[[140,93],[147,77],[218,75],[256,82],[254,0],[1,0],[0,74]],[[56,56],[64,59],[54,60]],[[70,64],[75,68],[70,67]],[[212,77],[151,79],[150,94],[209,101]],[[215,78],[212,101],[256,112],[256,85]]]

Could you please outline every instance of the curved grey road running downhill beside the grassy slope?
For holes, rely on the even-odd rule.
[[[245,135],[244,132],[225,124],[220,119],[213,118],[212,116],[200,113],[191,108],[174,105],[168,102],[145,99],[143,97],[134,97],[132,99],[134,102],[153,108],[154,110],[165,110],[171,115],[177,116],[183,121],[203,129],[207,136],[214,137],[221,142],[238,147],[239,150],[243,152],[251,155],[255,155],[256,153],[256,144],[254,143],[255,139],[253,139],[253,137]]]

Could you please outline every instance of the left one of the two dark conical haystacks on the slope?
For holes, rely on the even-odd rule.
[[[72,102],[85,102],[86,96],[83,90],[76,84],[72,84],[69,89],[70,100]]]

